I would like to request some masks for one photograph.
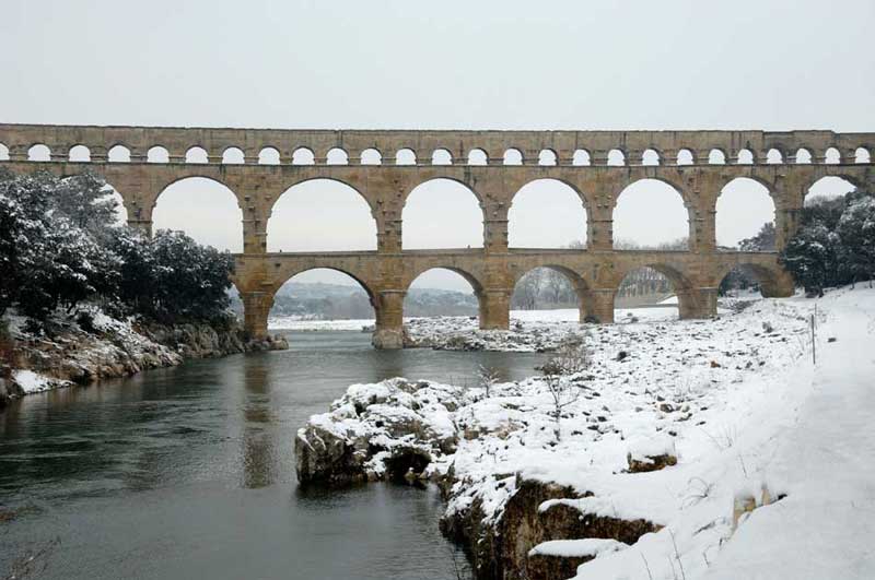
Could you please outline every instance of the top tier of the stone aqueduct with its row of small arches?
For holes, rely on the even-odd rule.
[[[163,147],[167,163],[316,165],[685,165],[872,163],[875,133],[832,131],[326,131],[0,125],[13,161],[45,145],[49,161],[73,147],[88,159],[112,159],[125,147],[131,162]],[[228,150],[241,155],[231,162]],[[198,151],[190,161],[191,150]],[[203,152],[202,154],[200,152]],[[299,151],[308,152],[305,159]],[[77,156],[85,163],[85,156]],[[205,161],[206,157],[206,161]],[[33,161],[47,161],[44,157]]]

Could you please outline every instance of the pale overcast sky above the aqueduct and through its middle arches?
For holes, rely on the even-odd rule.
[[[872,0],[3,0],[0,121],[873,131],[873,29]],[[733,187],[718,213],[726,245],[772,212],[762,191]],[[238,249],[226,192],[174,188],[156,226]],[[375,247],[366,205],[342,186],[300,186],[280,203],[275,249]],[[617,237],[686,235],[664,187],[640,184],[620,203]],[[459,188],[423,186],[404,217],[406,247],[481,244],[476,202]],[[511,218],[512,245],[585,236],[580,203],[555,185],[528,186]]]

